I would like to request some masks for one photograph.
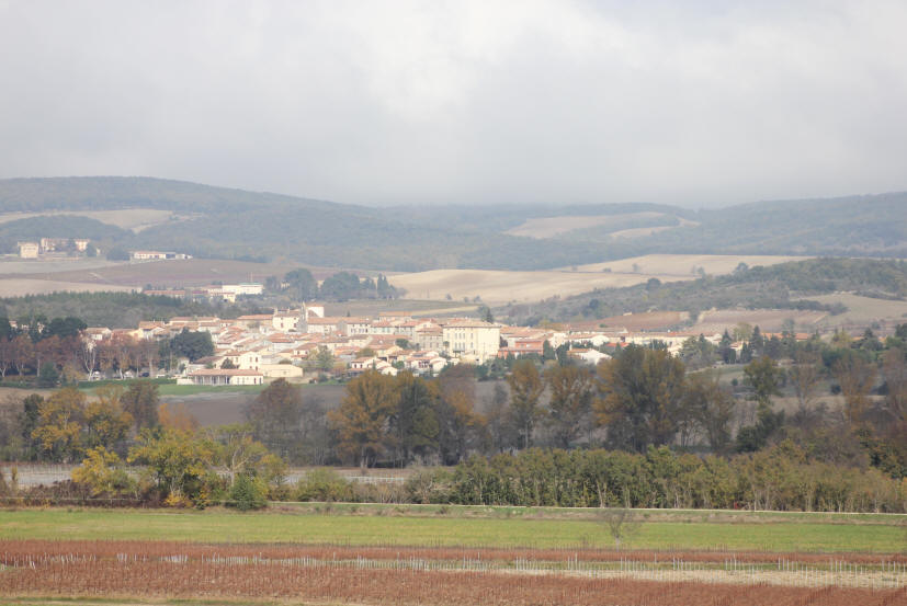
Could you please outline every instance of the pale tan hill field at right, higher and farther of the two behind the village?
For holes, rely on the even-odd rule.
[[[729,274],[741,262],[752,267],[756,265],[775,265],[789,261],[803,261],[804,259],[809,258],[757,254],[646,254],[619,261],[579,265],[577,271],[594,273],[611,270],[617,273],[632,273],[634,271],[633,266],[636,265],[639,273],[672,275],[692,279],[696,277],[699,267],[702,267],[706,274],[722,275]]]

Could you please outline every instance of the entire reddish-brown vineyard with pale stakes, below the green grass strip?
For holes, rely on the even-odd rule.
[[[810,583],[808,578],[782,572],[780,567],[778,571],[771,568],[728,571],[721,567],[691,570],[662,560],[660,568],[653,565],[646,570],[644,565],[648,562],[628,560],[630,553],[616,552],[615,556],[622,556],[616,569],[613,564],[602,569],[593,561],[579,560],[579,553],[572,558],[562,554],[555,560],[559,565],[553,569],[540,565],[538,560],[528,560],[520,552],[461,554],[442,549],[392,550],[393,553],[342,547],[274,551],[268,546],[237,550],[233,546],[206,548],[140,541],[61,541],[7,547],[0,595],[10,597],[269,597],[439,606],[907,604],[907,587],[898,584],[899,575],[887,579],[886,583],[864,575],[860,581],[875,580],[873,587],[884,588],[853,588],[840,586],[843,583],[828,575],[825,583],[820,575],[814,575]],[[682,556],[678,553],[674,559]],[[496,561],[502,561],[503,568],[495,567]],[[627,561],[632,564],[626,565]],[[891,561],[887,565],[891,567]],[[903,569],[903,563],[896,565]],[[702,580],[684,580],[691,573],[693,576],[699,573]],[[779,580],[791,585],[778,584]]]

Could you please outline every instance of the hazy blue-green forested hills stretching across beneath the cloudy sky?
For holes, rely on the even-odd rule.
[[[138,232],[91,219],[25,218],[2,226],[0,252],[63,228],[102,249],[388,271],[551,268],[653,252],[907,256],[907,193],[699,211],[655,204],[374,208],[147,178],[0,181],[2,213],[122,208],[180,217]],[[575,225],[551,235],[508,233],[526,221],[571,217]]]

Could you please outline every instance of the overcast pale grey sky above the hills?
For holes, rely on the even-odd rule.
[[[907,3],[0,0],[0,178],[689,207],[907,190]]]

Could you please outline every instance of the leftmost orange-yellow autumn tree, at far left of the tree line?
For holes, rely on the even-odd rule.
[[[81,454],[86,396],[65,387],[41,402],[32,437],[52,460],[71,462]]]

